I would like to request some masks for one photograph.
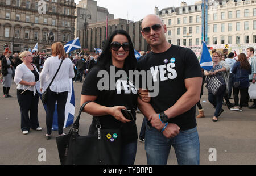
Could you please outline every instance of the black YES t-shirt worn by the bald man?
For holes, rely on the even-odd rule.
[[[173,106],[187,91],[184,79],[202,77],[195,53],[191,49],[176,45],[171,45],[163,53],[148,53],[139,60],[137,69],[149,70],[153,82],[156,81],[156,73],[159,71],[159,93],[156,97],[151,97],[151,106],[156,113]],[[184,114],[169,119],[169,122],[177,124],[181,130],[194,128],[196,127],[195,111],[196,106]]]

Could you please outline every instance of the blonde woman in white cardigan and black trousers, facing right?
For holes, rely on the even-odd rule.
[[[21,129],[24,135],[30,128],[40,131],[38,122],[38,93],[36,83],[39,84],[39,72],[32,64],[33,56],[29,51],[20,53],[19,58],[23,61],[15,70],[14,82],[17,87],[17,98],[20,106]],[[30,116],[28,115],[30,114]]]

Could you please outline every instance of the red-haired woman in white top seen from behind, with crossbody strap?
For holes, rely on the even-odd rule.
[[[47,114],[46,114],[46,139],[51,139],[53,113],[55,111],[55,102],[57,101],[57,114],[58,114],[58,131],[59,136],[65,135],[63,133],[65,121],[65,105],[68,98],[68,92],[71,91],[69,79],[75,76],[72,61],[67,57],[65,58],[65,50],[60,42],[52,44],[52,56],[47,58],[44,62],[43,70],[40,74],[40,91],[44,93],[55,76],[57,69],[60,66],[59,72],[49,87],[47,97]]]

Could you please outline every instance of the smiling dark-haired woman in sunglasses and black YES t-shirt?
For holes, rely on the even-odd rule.
[[[102,129],[121,128],[121,164],[126,165],[134,164],[137,151],[134,111],[137,108],[137,89],[132,78],[123,75],[120,78],[115,73],[124,71],[128,75],[128,71],[135,70],[136,65],[129,34],[123,30],[114,31],[106,41],[97,65],[88,72],[81,93],[81,104],[92,101],[84,108],[84,112],[93,115],[89,134],[96,132],[96,116],[100,118]],[[105,81],[103,84],[102,80]],[[134,121],[122,115],[121,109],[125,108],[132,111]]]

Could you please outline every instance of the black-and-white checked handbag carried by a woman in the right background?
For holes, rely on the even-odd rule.
[[[213,95],[220,95],[226,88],[226,83],[224,78],[216,74],[215,76],[208,76],[207,80],[207,87],[208,91]]]

